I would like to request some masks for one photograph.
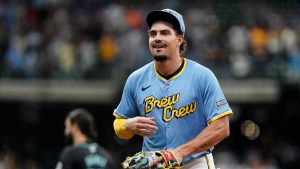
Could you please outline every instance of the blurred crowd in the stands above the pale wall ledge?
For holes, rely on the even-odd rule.
[[[173,8],[186,22],[184,55],[220,78],[300,77],[295,1],[1,1],[0,77],[111,78],[150,62],[145,16]]]

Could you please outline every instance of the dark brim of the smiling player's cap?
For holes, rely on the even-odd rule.
[[[146,18],[146,22],[147,25],[151,28],[151,26],[153,25],[154,22],[156,21],[165,21],[168,23],[171,23],[172,25],[174,25],[175,29],[177,31],[179,31],[179,33],[182,33],[180,30],[180,24],[179,21],[177,20],[177,18],[168,13],[168,12],[164,12],[164,11],[151,11]]]

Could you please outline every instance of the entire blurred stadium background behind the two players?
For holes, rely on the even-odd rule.
[[[120,163],[141,138],[116,138],[112,115],[127,76],[152,61],[145,16],[183,14],[185,57],[209,67],[234,111],[216,146],[220,169],[300,165],[297,0],[1,0],[0,169],[51,169],[66,114],[88,109]]]

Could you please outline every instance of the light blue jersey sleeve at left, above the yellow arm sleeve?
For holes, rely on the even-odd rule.
[[[137,106],[134,99],[135,78],[130,75],[125,83],[121,101],[114,113],[123,118],[131,118],[138,115]]]

